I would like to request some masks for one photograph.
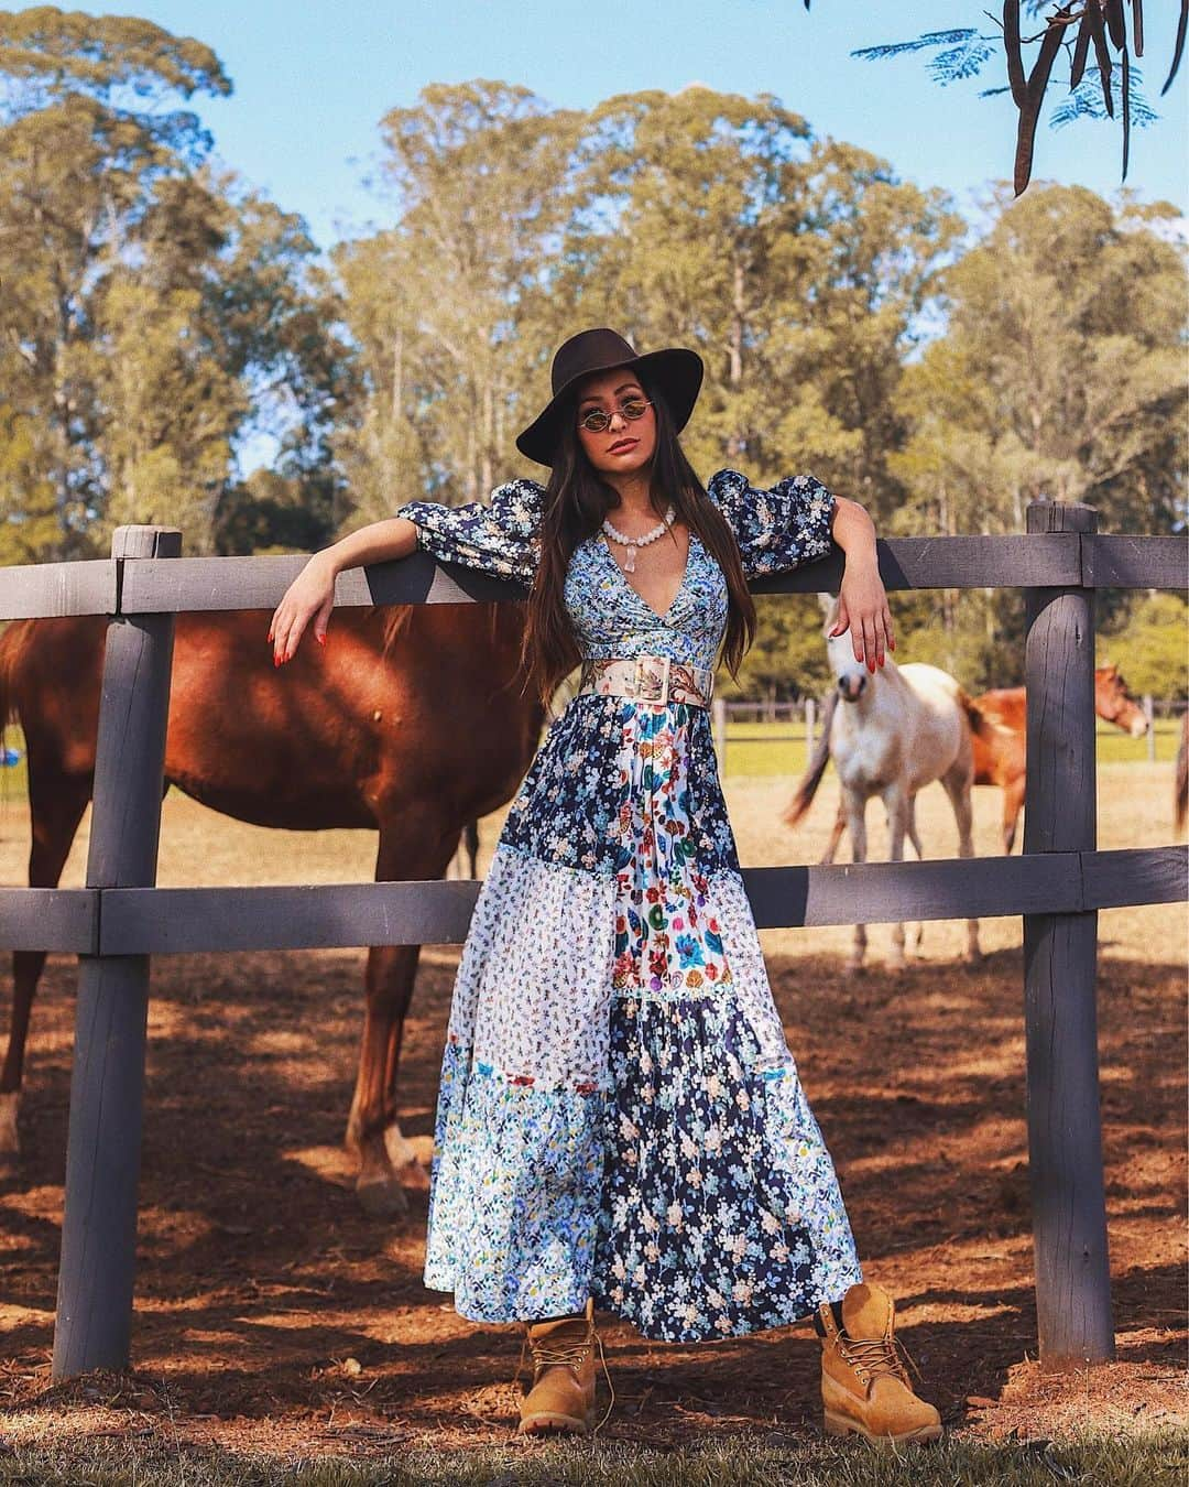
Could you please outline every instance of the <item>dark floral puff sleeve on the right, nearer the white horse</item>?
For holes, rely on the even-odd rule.
[[[706,494],[734,532],[748,578],[788,572],[829,553],[834,495],[811,474],[791,474],[761,491],[737,470],[719,470]]]

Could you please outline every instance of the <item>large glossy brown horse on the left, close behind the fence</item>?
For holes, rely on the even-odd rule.
[[[256,825],[379,831],[376,880],[441,877],[459,833],[514,794],[544,711],[520,694],[522,604],[334,611],[327,645],[278,672],[253,611],[178,614],[165,781]],[[91,799],[104,617],[21,620],[0,636],[0,721],[28,749],[28,880],[54,888]],[[476,739],[482,746],[476,748]],[[369,1212],[427,1178],[397,1121],[397,1060],[419,946],[373,946],[346,1124]],[[18,1152],[25,1036],[45,952],[13,953],[0,1164]],[[395,1163],[395,1166],[394,1166]]]

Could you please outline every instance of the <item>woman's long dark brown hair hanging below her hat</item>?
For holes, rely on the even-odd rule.
[[[685,458],[660,388],[649,387],[644,378],[641,385],[652,403],[657,421],[657,446],[648,482],[652,510],[660,516],[672,501],[676,507],[675,519],[685,522],[691,532],[697,532],[702,544],[722,568],[728,608],[719,660],[734,678],[755,636],[755,604],[743,575],[739,544],[722,512],[709,498]],[[603,517],[618,503],[614,486],[600,479],[586,457],[578,439],[575,412],[577,394],[571,397],[571,406],[562,419],[562,434],[545,485],[541,558],[529,593],[528,625],[520,653],[526,672],[525,686],[537,687],[545,708],[557,684],[581,660],[562,593],[569,561],[578,543],[593,537],[602,526]]]

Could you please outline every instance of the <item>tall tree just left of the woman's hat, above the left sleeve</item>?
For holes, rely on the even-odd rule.
[[[366,388],[336,439],[357,519],[427,489],[476,500],[511,459],[575,122],[482,80],[432,85],[385,114],[397,225],[334,254]]]

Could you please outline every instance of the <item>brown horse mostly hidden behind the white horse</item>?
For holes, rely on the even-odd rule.
[[[837,697],[826,699],[826,717],[822,720],[822,738],[817,742],[813,758],[806,770],[806,779],[814,769],[825,769],[828,758],[829,717],[832,715]],[[1015,828],[1020,821],[1020,810],[1024,806],[1024,749],[1026,749],[1026,718],[1027,700],[1023,687],[997,687],[984,691],[973,699],[973,708],[987,718],[993,727],[973,733],[973,784],[1003,787],[1003,851],[1011,852],[1015,846]],[[1115,723],[1133,738],[1143,738],[1147,732],[1147,715],[1127,690],[1118,666],[1098,666],[1094,672],[1094,709],[1100,718]],[[803,782],[804,788],[804,782]],[[832,861],[834,852],[846,831],[846,815],[841,801],[831,830],[826,855],[822,861]]]

